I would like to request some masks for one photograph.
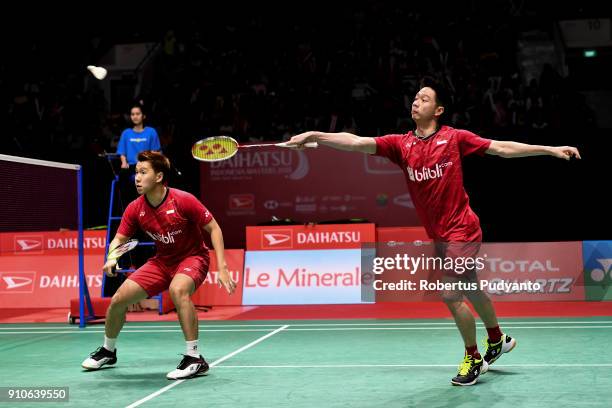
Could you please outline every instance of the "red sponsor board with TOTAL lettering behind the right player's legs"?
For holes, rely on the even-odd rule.
[[[379,242],[377,257],[407,255],[422,262],[438,259],[431,242],[388,244]],[[479,287],[498,302],[582,301],[585,290],[581,247],[581,242],[483,243],[474,256],[475,264],[482,265],[477,268]],[[393,266],[385,268],[378,279],[401,285],[396,286],[398,289],[377,290],[377,302],[441,300],[440,290],[433,285],[443,280],[443,271],[411,268],[410,262],[402,263],[407,268],[397,268],[392,262],[389,265]],[[409,282],[412,287],[407,287]]]

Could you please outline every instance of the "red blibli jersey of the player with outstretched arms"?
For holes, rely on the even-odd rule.
[[[463,187],[461,159],[483,155],[491,140],[449,126],[426,139],[411,131],[375,140],[376,155],[402,168],[419,219],[432,239],[467,242],[481,233]]]

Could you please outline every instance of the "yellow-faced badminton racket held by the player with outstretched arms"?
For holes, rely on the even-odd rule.
[[[191,155],[196,160],[216,162],[233,157],[236,153],[238,153],[238,149],[268,146],[295,149],[294,146],[289,146],[287,142],[239,145],[236,140],[229,136],[213,136],[195,142],[191,147]],[[303,146],[308,148],[316,148],[319,145],[317,142],[311,142],[305,143]]]

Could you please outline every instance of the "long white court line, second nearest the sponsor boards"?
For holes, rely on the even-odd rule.
[[[612,329],[612,326],[508,326],[511,329]],[[213,332],[258,332],[268,331],[269,329],[221,329],[221,330],[204,330],[202,333]],[[451,327],[308,327],[287,329],[286,331],[363,331],[363,330],[456,330],[455,326]],[[181,329],[167,330],[121,330],[121,333],[168,333],[180,332]],[[104,333],[104,330],[83,330],[83,331],[5,331],[2,334],[90,334]]]

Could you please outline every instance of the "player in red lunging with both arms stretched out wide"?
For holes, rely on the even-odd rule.
[[[412,103],[411,114],[416,124],[414,131],[374,138],[350,133],[306,132],[291,138],[289,144],[300,147],[306,142],[318,142],[339,150],[387,157],[402,168],[418,216],[430,238],[436,242],[437,255],[443,258],[474,257],[480,248],[482,231],[463,187],[461,160],[464,156],[491,154],[513,158],[548,155],[569,160],[580,159],[580,154],[570,146],[536,146],[489,140],[467,130],[440,126],[440,117],[448,100],[449,96],[441,84],[432,78],[425,78]],[[450,272],[444,276],[446,282],[476,279],[474,270],[463,274]],[[487,328],[484,357],[476,346],[476,324],[464,301],[465,297]],[[489,364],[514,348],[516,340],[501,332],[495,309],[486,293],[480,290],[443,291],[442,298],[465,343],[464,359],[451,383],[473,385],[478,376],[486,372]]]

